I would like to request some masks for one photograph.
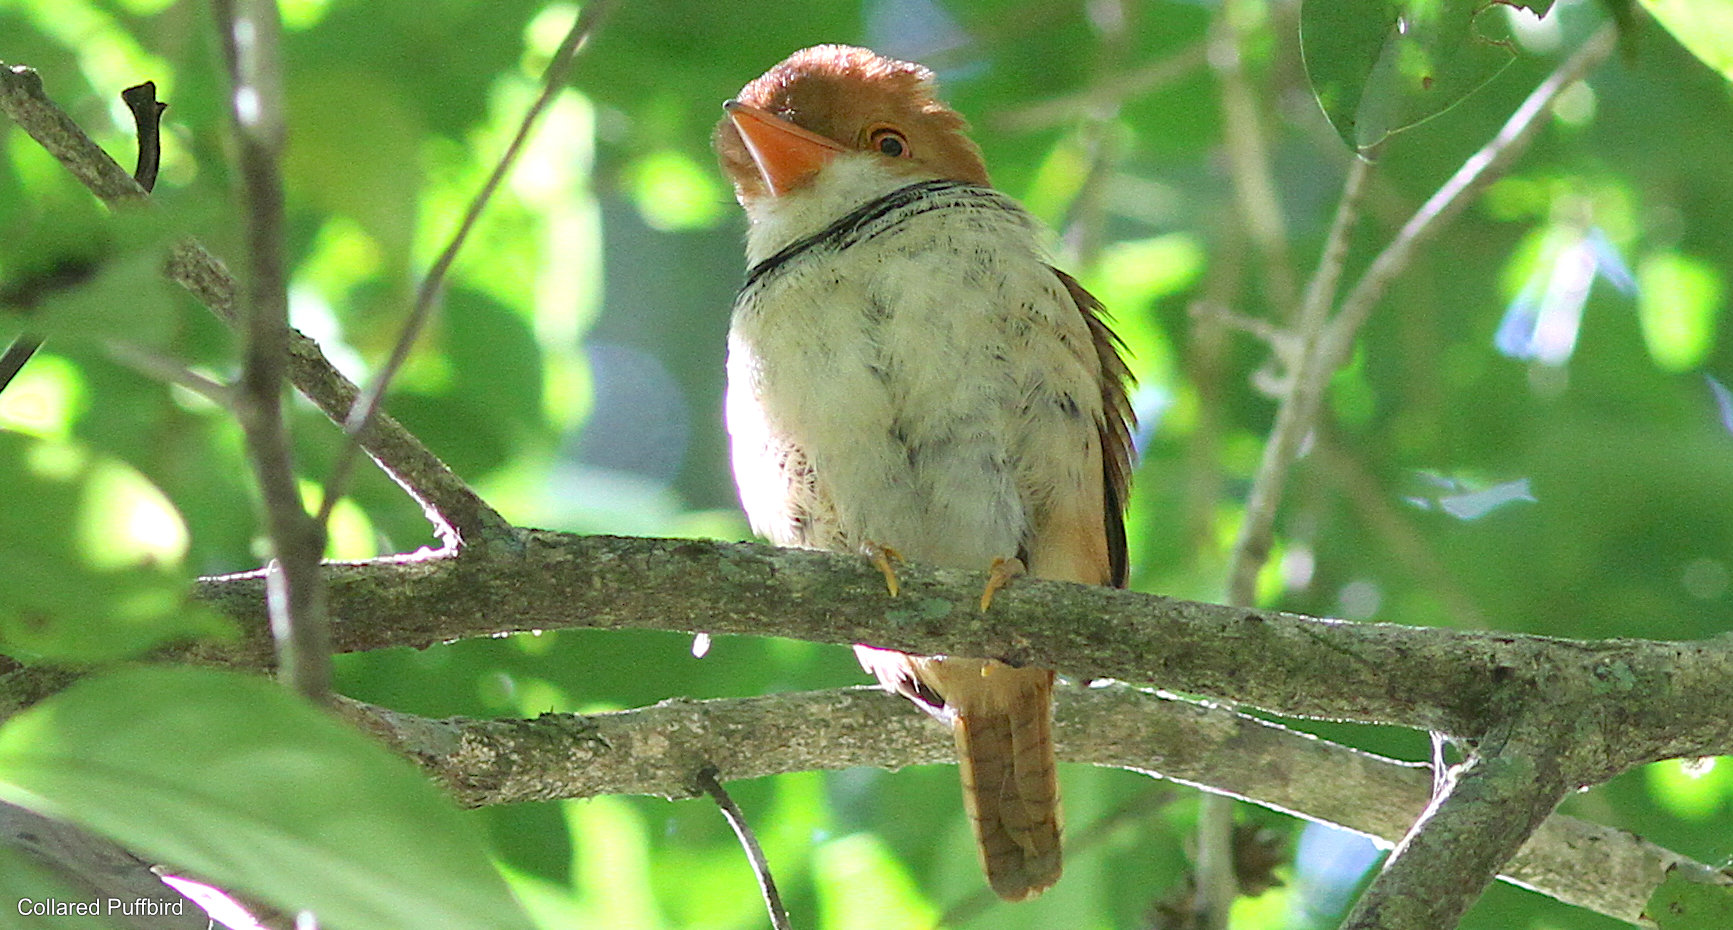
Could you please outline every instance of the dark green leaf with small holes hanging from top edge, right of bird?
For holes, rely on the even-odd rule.
[[[1357,152],[1459,104],[1515,57],[1503,14],[1480,0],[1307,0],[1300,52]]]

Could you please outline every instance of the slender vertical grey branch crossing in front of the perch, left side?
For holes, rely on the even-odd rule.
[[[324,532],[302,507],[282,419],[289,360],[288,270],[284,268],[281,23],[270,0],[217,0],[217,28],[229,62],[241,203],[246,215],[248,281],[243,298],[244,357],[237,412],[263,499],[272,568],[267,578],[277,668],[302,696],[331,693],[331,634],[319,559]]]

